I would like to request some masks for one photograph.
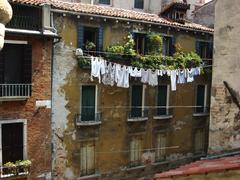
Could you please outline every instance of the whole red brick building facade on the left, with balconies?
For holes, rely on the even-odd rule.
[[[45,6],[12,1],[11,6],[14,14],[0,51],[0,179],[43,178],[51,176],[51,62],[56,34]],[[29,162],[30,171],[11,169],[12,163]]]

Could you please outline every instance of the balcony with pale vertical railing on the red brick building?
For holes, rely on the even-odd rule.
[[[31,84],[0,84],[0,101],[26,100],[31,92]]]

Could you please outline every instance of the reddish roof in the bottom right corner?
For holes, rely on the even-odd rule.
[[[196,161],[194,163],[180,166],[174,170],[156,174],[154,179],[157,180],[177,176],[199,175],[236,169],[240,169],[240,155]]]

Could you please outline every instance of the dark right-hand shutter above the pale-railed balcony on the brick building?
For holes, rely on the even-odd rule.
[[[24,45],[23,82],[32,82],[32,46]]]

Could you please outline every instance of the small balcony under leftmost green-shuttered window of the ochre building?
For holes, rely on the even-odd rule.
[[[102,119],[102,113],[95,114],[76,114],[75,121],[76,126],[96,126],[100,125]]]

